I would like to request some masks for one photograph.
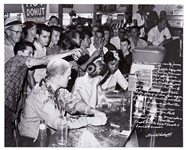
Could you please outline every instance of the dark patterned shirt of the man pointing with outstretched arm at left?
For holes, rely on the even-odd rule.
[[[29,57],[16,55],[5,63],[5,105],[13,112],[17,108]]]

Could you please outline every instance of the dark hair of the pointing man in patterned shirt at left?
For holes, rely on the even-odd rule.
[[[14,54],[17,55],[18,51],[24,52],[26,50],[27,46],[32,47],[33,50],[36,50],[36,48],[35,48],[33,43],[24,40],[24,41],[17,42],[15,44],[15,46],[14,46]]]

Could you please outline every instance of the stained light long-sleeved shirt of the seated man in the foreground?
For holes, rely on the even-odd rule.
[[[65,111],[69,114],[79,112],[88,114],[91,108],[82,100],[77,99],[66,89],[60,89],[60,99],[65,102]],[[37,138],[40,120],[44,120],[50,129],[57,129],[60,122],[60,112],[55,107],[54,93],[49,91],[46,86],[36,84],[28,95],[24,109],[21,113],[19,123],[19,134],[26,137]],[[67,124],[70,129],[79,128],[87,125],[86,117],[78,119],[69,118]],[[53,131],[53,130],[52,130]]]

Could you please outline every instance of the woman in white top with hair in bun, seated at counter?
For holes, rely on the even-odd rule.
[[[102,97],[98,84],[107,71],[107,65],[103,64],[101,60],[89,64],[86,74],[76,79],[72,93],[88,106],[95,108],[101,102]]]

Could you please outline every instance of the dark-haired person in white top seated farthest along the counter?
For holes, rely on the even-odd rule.
[[[115,90],[117,83],[124,90],[128,87],[128,82],[119,70],[119,61],[119,54],[116,50],[111,50],[104,55],[104,62],[109,67],[109,73],[100,82],[100,85],[105,92]]]

